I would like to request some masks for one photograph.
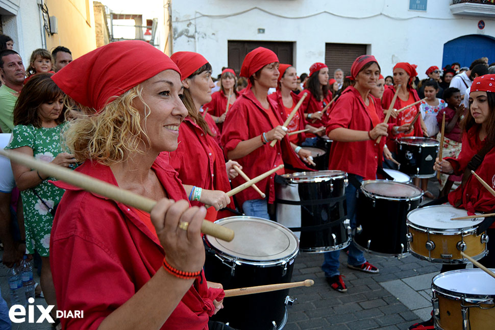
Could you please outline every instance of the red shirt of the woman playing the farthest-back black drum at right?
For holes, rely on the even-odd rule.
[[[395,88],[393,86],[389,86],[389,88],[386,88],[385,91],[383,92],[383,97],[382,97],[382,108],[388,110],[388,107],[390,106],[390,103],[392,103],[392,98],[393,94],[395,94]],[[402,109],[403,107],[407,106],[408,104],[412,104],[415,101],[419,101],[419,96],[417,95],[416,90],[410,89],[409,90],[409,98],[407,101],[403,101],[400,99],[400,97],[397,97],[395,99],[395,104],[392,108],[394,109]],[[415,105],[413,109],[406,109],[403,110],[397,118],[393,118],[390,116],[388,119],[388,125],[389,125],[389,133],[388,133],[388,138],[387,138],[387,146],[390,152],[394,153],[395,150],[397,149],[397,146],[395,144],[395,140],[399,139],[403,136],[405,136],[403,133],[394,135],[391,134],[391,129],[393,126],[400,126],[405,123],[410,123],[414,119],[414,116],[419,112],[419,105]],[[423,136],[423,130],[421,129],[421,123],[419,121],[420,119],[418,118],[416,122],[414,123],[414,129],[412,131],[412,134],[410,136]]]

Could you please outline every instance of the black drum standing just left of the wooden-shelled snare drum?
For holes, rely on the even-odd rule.
[[[357,200],[354,242],[378,256],[406,256],[406,216],[419,206],[422,197],[423,191],[410,184],[363,181]]]

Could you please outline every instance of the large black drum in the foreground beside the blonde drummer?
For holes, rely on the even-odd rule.
[[[298,238],[283,225],[256,217],[235,216],[215,221],[235,232],[231,242],[203,237],[206,247],[205,275],[224,289],[288,283]],[[288,289],[225,298],[224,309],[213,320],[229,322],[241,330],[281,329],[287,322]]]

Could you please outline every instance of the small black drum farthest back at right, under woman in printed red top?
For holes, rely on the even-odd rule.
[[[401,163],[401,172],[420,178],[436,175],[433,165],[440,145],[437,140],[408,136],[397,139],[397,144],[397,161]]]

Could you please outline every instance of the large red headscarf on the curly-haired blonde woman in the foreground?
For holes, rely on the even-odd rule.
[[[92,50],[52,79],[77,103],[100,112],[117,96],[169,69],[181,73],[168,56],[149,43],[127,40]]]

